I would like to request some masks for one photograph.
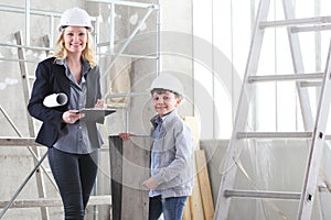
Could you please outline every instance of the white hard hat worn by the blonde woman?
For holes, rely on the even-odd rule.
[[[79,8],[67,9],[63,12],[58,31],[62,31],[65,26],[86,26],[89,32],[93,32],[88,13]]]

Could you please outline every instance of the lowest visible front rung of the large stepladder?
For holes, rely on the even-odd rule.
[[[287,191],[257,191],[257,190],[225,190],[225,197],[246,197],[246,198],[269,198],[269,199],[297,199],[301,198],[300,193]]]

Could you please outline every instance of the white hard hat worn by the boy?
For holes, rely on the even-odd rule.
[[[150,91],[153,89],[164,89],[180,96],[183,96],[184,92],[181,81],[170,74],[160,74],[150,86]]]

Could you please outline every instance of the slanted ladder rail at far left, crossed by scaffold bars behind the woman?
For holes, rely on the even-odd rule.
[[[22,45],[22,34],[21,32],[14,33],[17,44]],[[22,62],[19,62],[20,69],[21,69],[21,79],[22,79],[22,86],[23,86],[23,92],[24,92],[24,103],[25,106],[29,102],[29,96],[30,96],[30,87],[29,87],[29,77],[28,77],[28,66],[26,63],[24,62],[25,54],[23,48],[19,47],[18,48],[18,56],[19,59],[22,59]],[[28,111],[26,111],[28,114]],[[31,136],[35,136],[34,132],[34,124],[32,118],[28,114],[28,125],[29,125],[29,132]],[[38,157],[41,157],[41,152],[40,148],[36,146],[33,146],[32,150],[34,151],[35,155]],[[39,167],[39,163],[34,161],[34,165]],[[36,185],[38,185],[38,195],[40,198],[45,198],[45,186],[44,186],[44,178],[41,174],[41,172],[35,173],[36,177]],[[41,216],[43,220],[47,220],[49,218],[49,210],[45,207],[41,207]]]

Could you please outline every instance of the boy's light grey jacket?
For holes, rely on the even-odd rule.
[[[156,118],[151,119],[154,123]],[[153,129],[152,131],[153,132]],[[193,135],[188,124],[173,110],[161,127],[161,139],[153,140],[151,176],[158,183],[150,196],[162,198],[190,196],[194,183]]]

